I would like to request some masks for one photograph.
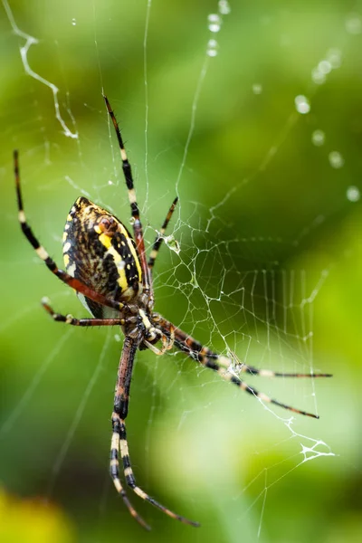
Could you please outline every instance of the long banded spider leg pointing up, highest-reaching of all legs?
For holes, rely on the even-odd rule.
[[[124,148],[124,145],[123,145],[123,139],[120,135],[119,125],[118,125],[116,116],[110,107],[110,102],[108,101],[107,96],[103,95],[103,98],[104,98],[104,101],[106,102],[106,107],[110,114],[110,119],[112,120],[113,127],[116,131],[116,136],[119,142],[120,158],[122,160],[123,174],[126,180],[127,188],[129,189],[129,204],[130,204],[132,218],[134,221],[133,233],[135,235],[138,257],[139,257],[139,261],[142,268],[143,288],[144,288],[144,291],[150,292],[152,290],[151,278],[148,271],[145,242],[143,239],[142,224],[139,219],[139,209],[138,209],[138,203],[137,203],[137,197],[136,197],[136,190],[133,183],[132,170],[129,164],[129,159],[127,157],[126,149]]]

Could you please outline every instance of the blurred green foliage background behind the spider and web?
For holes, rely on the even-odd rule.
[[[3,5],[1,541],[362,537],[362,3],[230,6],[211,33],[211,0]],[[25,73],[26,35],[14,25],[38,40],[27,60],[59,89],[60,114],[77,139],[64,136],[52,89]],[[210,39],[218,54],[205,63]],[[201,529],[132,496],[152,525],[145,533],[111,488],[118,331],[47,318],[44,295],[59,311],[85,310],[38,262],[17,223],[14,148],[30,222],[58,262],[78,195],[128,224],[102,89],[124,134],[148,243],[180,196],[169,233],[181,252],[165,246],[157,262],[157,310],[255,366],[335,375],[314,385],[253,381],[321,416],[296,417],[288,428],[288,413],[275,408],[274,416],[182,355],[139,353],[128,419],[138,483]],[[298,96],[308,113],[297,111]],[[321,455],[300,465],[302,447]],[[322,455],[330,451],[336,456]]]

